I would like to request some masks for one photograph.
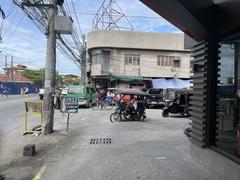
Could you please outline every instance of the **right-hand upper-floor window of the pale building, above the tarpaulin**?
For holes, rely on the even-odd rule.
[[[180,60],[179,56],[158,56],[157,66],[180,67]]]

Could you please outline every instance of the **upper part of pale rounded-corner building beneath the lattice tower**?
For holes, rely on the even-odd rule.
[[[88,75],[100,86],[144,88],[152,78],[190,78],[190,51],[181,33],[93,31]]]

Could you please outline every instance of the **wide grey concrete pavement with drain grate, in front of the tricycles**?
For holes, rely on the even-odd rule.
[[[183,134],[188,119],[162,118],[160,110],[150,109],[146,122],[113,124],[110,113],[81,109],[71,118],[68,134],[62,119],[55,135],[34,137],[38,155],[15,163],[24,161],[25,168],[5,165],[3,173],[9,179],[18,174],[44,180],[221,180],[190,157]],[[90,144],[92,138],[111,138],[112,143]]]

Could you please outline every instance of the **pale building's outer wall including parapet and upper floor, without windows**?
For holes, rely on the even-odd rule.
[[[109,72],[114,75],[190,78],[190,51],[184,49],[183,34],[101,30],[90,32],[87,42],[88,52],[111,51]],[[140,66],[125,65],[125,54],[140,54]],[[158,55],[180,56],[181,67],[157,66]],[[91,72],[103,75],[99,65],[93,64]]]

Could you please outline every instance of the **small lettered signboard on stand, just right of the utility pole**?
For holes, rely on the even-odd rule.
[[[78,99],[74,97],[64,97],[61,111],[65,113],[78,113]]]

